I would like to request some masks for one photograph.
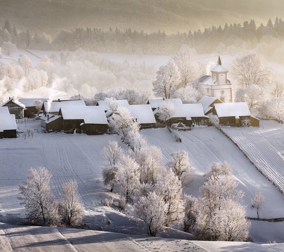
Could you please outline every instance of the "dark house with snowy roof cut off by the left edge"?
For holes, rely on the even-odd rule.
[[[0,114],[0,138],[17,138],[17,124],[14,114]]]

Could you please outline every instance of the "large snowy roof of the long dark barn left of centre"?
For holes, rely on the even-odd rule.
[[[64,120],[83,119],[85,123],[107,124],[106,113],[101,106],[63,106],[60,112]]]

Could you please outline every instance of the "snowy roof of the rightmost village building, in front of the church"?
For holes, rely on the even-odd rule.
[[[216,109],[218,117],[251,115],[248,104],[246,104],[246,102],[216,103],[213,107]]]

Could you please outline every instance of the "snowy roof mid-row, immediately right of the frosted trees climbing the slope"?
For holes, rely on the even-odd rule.
[[[139,123],[156,123],[150,104],[125,106]]]

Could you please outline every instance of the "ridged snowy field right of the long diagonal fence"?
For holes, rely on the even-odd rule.
[[[222,127],[275,184],[284,190],[284,125],[261,121],[260,127]]]

